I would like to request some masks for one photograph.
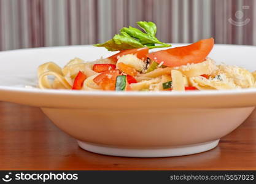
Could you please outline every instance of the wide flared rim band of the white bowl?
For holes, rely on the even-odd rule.
[[[174,47],[186,44],[173,44]],[[228,44],[216,44],[218,47],[243,47],[254,49],[253,45],[228,45]],[[7,50],[0,52],[1,54],[13,55],[14,53],[22,54],[23,52],[34,52],[35,50],[45,50],[45,52],[51,52],[55,49],[83,49],[86,47],[93,47],[92,45],[65,45],[58,47],[39,47],[39,48],[24,48],[18,50]],[[104,49],[104,48],[100,48]],[[60,52],[60,50],[58,52]],[[159,49],[158,49],[159,50]],[[80,51],[79,51],[80,52]],[[26,104],[37,107],[71,107],[71,108],[82,108],[82,107],[103,107],[99,101],[104,101],[106,104],[110,104],[109,100],[112,101],[112,106],[120,105],[118,101],[125,102],[127,104],[143,105],[144,99],[150,99],[158,103],[158,100],[173,101],[178,104],[179,107],[252,107],[256,105],[254,98],[256,97],[256,88],[238,89],[238,90],[205,90],[205,91],[76,91],[76,90],[42,90],[39,88],[25,88],[17,86],[0,85],[0,100],[15,102],[18,104]],[[40,99],[41,98],[41,99]],[[239,102],[236,99],[240,98]],[[33,99],[33,100],[32,100]],[[39,100],[40,99],[40,100]],[[44,100],[45,99],[45,100]],[[46,101],[47,99],[47,101]],[[56,100],[58,99],[58,104]],[[85,101],[90,101],[91,104],[86,104]],[[98,104],[92,99],[97,99]],[[136,99],[136,100],[135,100]],[[214,99],[214,100],[212,100]],[[114,101],[113,101],[114,100]],[[135,101],[134,101],[135,100]],[[29,101],[29,102],[28,102]],[[55,101],[53,103],[52,101]],[[71,101],[76,101],[76,104],[70,106]],[[139,104],[138,104],[138,101]],[[196,103],[189,104],[188,101]],[[200,101],[200,102],[199,102]],[[224,102],[225,101],[225,102]],[[219,102],[219,104],[217,104]],[[211,103],[211,104],[209,104]],[[95,104],[95,105],[93,105]],[[130,104],[130,105],[131,105]],[[145,103],[147,104],[147,103]],[[167,105],[167,104],[165,104]],[[170,107],[176,107],[168,102]],[[132,106],[132,105],[131,105]],[[107,107],[107,106],[106,106]]]

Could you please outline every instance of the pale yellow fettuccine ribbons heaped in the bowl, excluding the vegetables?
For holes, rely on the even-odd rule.
[[[215,61],[210,58],[206,58],[202,63],[179,67],[158,67],[145,73],[144,61],[138,59],[136,55],[124,55],[118,58],[117,63],[112,59],[101,58],[96,61],[85,62],[82,59],[74,58],[63,68],[53,62],[42,64],[37,69],[39,88],[71,89],[74,81],[77,80],[77,74],[81,71],[87,77],[82,81],[82,90],[103,90],[101,86],[93,81],[99,75],[98,72],[93,71],[94,64],[115,64],[116,69],[118,69],[118,63],[126,64],[131,71],[135,71],[132,76],[136,80],[133,79],[133,82],[128,83],[133,91],[163,91],[163,83],[169,81],[172,81],[173,91],[184,91],[187,86],[193,86],[198,90],[231,90],[254,88],[256,86],[256,71],[249,72],[242,67],[227,64],[216,65]],[[127,70],[124,71],[121,68],[118,70],[115,71],[117,75],[131,75]],[[104,74],[101,76],[111,77],[109,74],[106,74],[106,76]],[[113,82],[112,85],[115,85],[115,83]]]

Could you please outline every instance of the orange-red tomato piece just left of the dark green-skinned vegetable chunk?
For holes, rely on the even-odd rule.
[[[101,86],[103,90],[115,90],[115,81],[118,75],[119,71],[117,70],[106,71],[95,77],[93,82]]]

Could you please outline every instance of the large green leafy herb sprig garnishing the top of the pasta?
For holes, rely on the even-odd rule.
[[[157,26],[155,23],[149,21],[138,21],[139,27],[144,31],[133,27],[122,28],[120,34],[116,34],[113,39],[104,42],[103,44],[96,44],[96,47],[105,47],[109,51],[126,50],[131,48],[161,48],[170,47],[171,45],[160,42],[155,34],[157,33]],[[159,44],[159,45],[155,45]]]

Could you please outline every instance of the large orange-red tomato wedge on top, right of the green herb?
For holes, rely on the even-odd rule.
[[[214,47],[214,39],[200,40],[194,44],[149,53],[148,57],[164,66],[175,67],[188,63],[201,63]]]

